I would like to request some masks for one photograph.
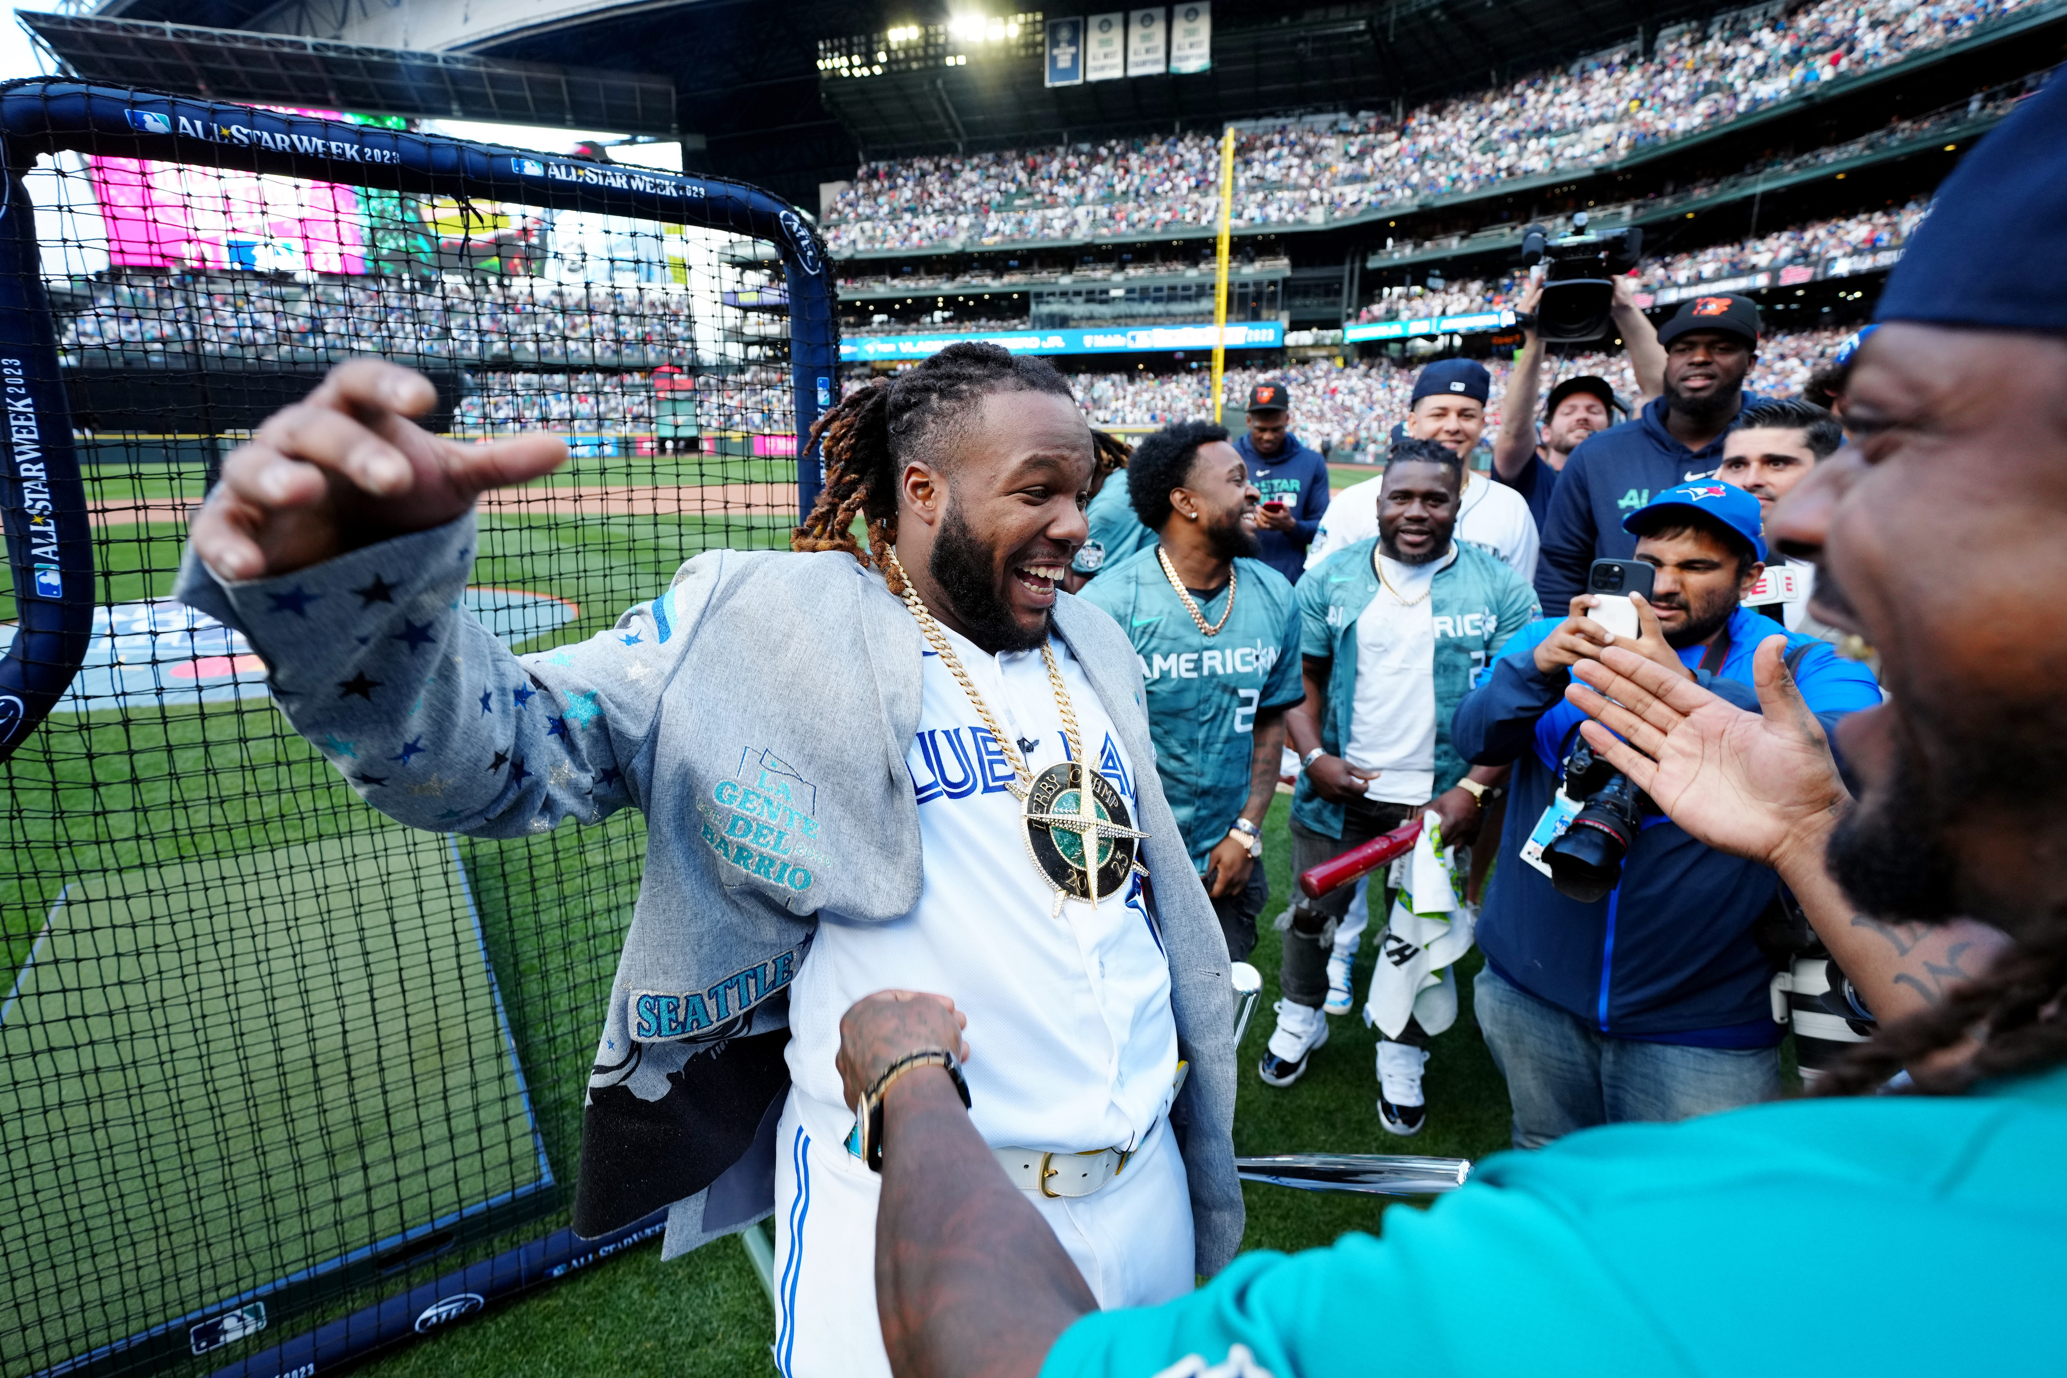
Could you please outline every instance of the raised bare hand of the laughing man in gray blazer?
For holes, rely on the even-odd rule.
[[[300,403],[267,417],[223,461],[192,541],[223,578],[269,578],[360,545],[438,527],[490,488],[527,483],[566,461],[558,436],[459,444],[422,430],[436,390],[382,359],[351,359]]]

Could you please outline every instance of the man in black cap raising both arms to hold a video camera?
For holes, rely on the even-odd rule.
[[[1515,370],[1507,376],[1507,395],[1501,397],[1501,434],[1492,442],[1492,477],[1521,494],[1538,531],[1550,521],[1550,494],[1556,492],[1556,475],[1565,471],[1565,461],[1587,436],[1614,426],[1618,407],[1627,411],[1606,378],[1579,374],[1550,388],[1542,432],[1538,432],[1536,393],[1542,384],[1544,341],[1536,333],[1536,306],[1542,295],[1540,281],[1532,281],[1521,291],[1521,304],[1515,312],[1521,324],[1521,353],[1515,355]],[[1658,331],[1649,318],[1637,310],[1635,279],[1629,275],[1614,279],[1610,318],[1621,331],[1629,368],[1637,374],[1641,395],[1635,405],[1641,407],[1664,390],[1666,351],[1658,343]],[[1523,576],[1536,578],[1534,566],[1523,570]]]

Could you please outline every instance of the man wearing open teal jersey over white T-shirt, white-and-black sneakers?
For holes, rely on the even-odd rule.
[[[1449,717],[1488,657],[1536,616],[1511,568],[1453,541],[1463,461],[1432,440],[1403,440],[1385,465],[1379,533],[1298,587],[1306,700],[1286,715],[1302,771],[1292,795],[1298,874],[1432,810],[1443,845],[1468,843],[1499,771],[1474,771],[1451,748]],[[1327,1041],[1323,1002],[1333,930],[1352,888],[1292,905],[1284,938],[1277,1029],[1257,1074],[1290,1087]],[[1428,1033],[1408,1021],[1379,1043],[1379,1120],[1416,1134],[1426,1118]]]

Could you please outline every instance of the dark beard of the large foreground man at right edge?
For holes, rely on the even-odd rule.
[[[1935,791],[1895,744],[1879,800],[1854,808],[1831,833],[1825,853],[1831,880],[1879,919],[1937,923],[1953,917],[1960,913],[1957,862],[1939,833],[1947,816],[1943,791]]]

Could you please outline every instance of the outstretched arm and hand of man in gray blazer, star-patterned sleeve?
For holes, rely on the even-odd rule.
[[[670,655],[655,609],[527,657],[473,620],[475,500],[566,446],[440,440],[409,419],[432,401],[420,374],[353,359],[269,417],[194,519],[180,597],[246,632],[296,729],[382,812],[490,835],[599,818],[630,802]]]

